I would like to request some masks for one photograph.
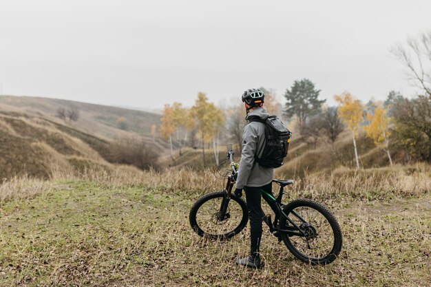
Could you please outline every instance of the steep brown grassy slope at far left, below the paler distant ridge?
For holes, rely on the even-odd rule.
[[[0,180],[48,178],[56,169],[109,169],[109,142],[41,116],[0,109]]]

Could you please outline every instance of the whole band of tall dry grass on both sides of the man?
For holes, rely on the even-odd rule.
[[[182,167],[165,171],[141,171],[135,167],[92,162],[85,158],[70,158],[70,164],[63,161],[49,163],[52,180],[84,180],[105,187],[145,187],[187,194],[222,190],[225,185],[222,176],[214,174],[210,169]],[[277,173],[275,176],[284,178]],[[285,190],[288,199],[388,200],[417,197],[431,192],[431,168],[427,164],[359,171],[340,168],[330,175],[315,173],[305,178],[293,179],[295,184]],[[17,178],[13,181],[17,182]],[[25,182],[25,178],[22,181]]]

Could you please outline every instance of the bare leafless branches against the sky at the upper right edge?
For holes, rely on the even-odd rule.
[[[409,38],[407,45],[393,46],[391,52],[408,68],[410,80],[431,98],[431,30]]]

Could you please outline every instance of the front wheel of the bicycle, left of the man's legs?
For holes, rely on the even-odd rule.
[[[210,239],[223,240],[244,229],[249,220],[247,205],[242,198],[231,195],[224,217],[220,216],[225,191],[208,193],[199,198],[189,214],[193,231]]]

